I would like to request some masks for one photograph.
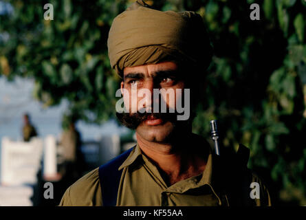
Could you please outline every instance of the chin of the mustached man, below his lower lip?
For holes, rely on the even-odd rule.
[[[155,126],[142,123],[137,127],[136,132],[148,142],[167,143],[171,140],[173,133],[175,133],[175,126],[171,122]]]

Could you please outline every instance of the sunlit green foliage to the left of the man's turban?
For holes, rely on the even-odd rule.
[[[50,107],[63,98],[67,115],[88,122],[107,120],[113,114],[118,83],[107,57],[107,36],[113,17],[124,1],[50,1],[54,20],[43,19],[44,1],[12,1],[14,13],[0,17],[1,57],[14,76],[35,78],[34,96]],[[69,118],[69,117],[65,117]]]

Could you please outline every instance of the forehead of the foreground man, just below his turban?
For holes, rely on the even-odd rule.
[[[125,67],[123,70],[123,76],[131,73],[142,73],[142,74],[154,74],[155,72],[160,71],[169,71],[169,70],[177,70],[177,64],[171,61],[163,62],[163,63],[156,63],[156,64],[148,64],[148,65],[141,65],[137,67]]]

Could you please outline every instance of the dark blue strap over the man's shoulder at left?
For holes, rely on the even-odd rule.
[[[118,188],[122,175],[122,170],[118,170],[118,168],[129,157],[132,150],[133,147],[99,167],[103,206],[116,206]]]

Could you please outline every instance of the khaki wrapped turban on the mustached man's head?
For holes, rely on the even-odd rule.
[[[206,69],[212,56],[199,14],[153,10],[143,1],[133,3],[113,20],[107,45],[111,67],[121,76],[124,67],[161,61]]]

